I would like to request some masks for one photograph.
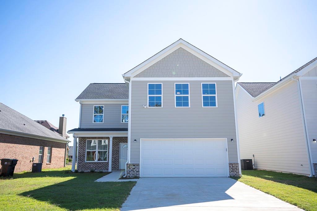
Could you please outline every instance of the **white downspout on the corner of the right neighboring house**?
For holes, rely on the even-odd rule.
[[[296,73],[295,73],[295,76],[297,76]],[[308,138],[308,128],[307,128],[306,117],[305,117],[304,99],[303,99],[303,93],[302,93],[302,89],[301,89],[301,82],[300,82],[299,79],[295,79],[294,77],[292,77],[291,80],[297,82],[297,86],[298,86],[298,89],[299,89],[299,95],[301,97],[301,114],[302,114],[302,117],[303,117],[304,134],[305,134],[305,139],[306,139],[306,144],[307,144],[308,163],[309,163],[309,166],[310,166],[310,168],[309,168],[310,169],[309,177],[313,177],[314,167],[312,166],[313,160],[312,160],[312,156],[311,156],[311,150],[310,150],[310,144],[309,144],[309,138]]]

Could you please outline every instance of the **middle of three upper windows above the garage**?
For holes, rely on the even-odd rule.
[[[191,107],[189,84],[175,83],[175,107]]]

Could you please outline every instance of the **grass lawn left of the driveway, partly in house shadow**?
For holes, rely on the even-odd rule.
[[[120,210],[136,182],[94,182],[107,173],[69,167],[0,179],[0,210]]]

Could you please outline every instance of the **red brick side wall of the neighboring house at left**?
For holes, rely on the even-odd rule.
[[[18,159],[14,172],[30,171],[33,157],[38,163],[40,146],[44,146],[43,169],[64,167],[66,143],[0,133],[0,159]],[[52,147],[49,164],[46,163],[48,147]]]

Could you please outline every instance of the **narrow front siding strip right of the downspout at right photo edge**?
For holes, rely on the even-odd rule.
[[[313,162],[317,163],[317,80],[301,80],[303,100],[305,106],[306,122],[310,149]]]

